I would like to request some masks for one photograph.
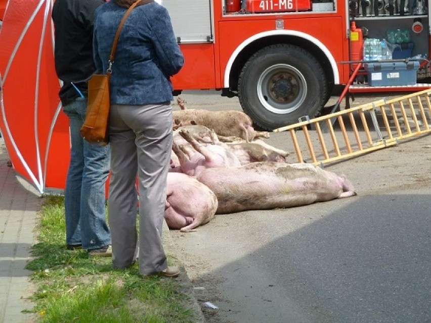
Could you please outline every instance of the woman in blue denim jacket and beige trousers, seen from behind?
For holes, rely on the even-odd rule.
[[[96,10],[93,48],[98,71],[108,69],[119,23],[135,2],[111,0]],[[122,27],[112,65],[108,222],[113,266],[128,267],[138,256],[142,275],[180,273],[178,267],[167,265],[161,231],[173,136],[170,77],[183,64],[167,10],[155,2],[133,9]]]

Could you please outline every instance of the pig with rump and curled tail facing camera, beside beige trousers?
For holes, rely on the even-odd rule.
[[[218,202],[214,193],[195,178],[168,173],[164,219],[170,229],[189,232],[214,218]]]

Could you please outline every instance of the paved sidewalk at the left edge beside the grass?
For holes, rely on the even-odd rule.
[[[9,155],[0,138],[0,322],[29,323],[33,285],[25,269],[34,244],[40,194],[8,166]]]

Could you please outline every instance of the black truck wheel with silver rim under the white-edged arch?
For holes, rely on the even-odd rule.
[[[308,51],[275,44],[254,53],[241,70],[238,97],[254,124],[274,130],[314,118],[328,97],[322,66]]]

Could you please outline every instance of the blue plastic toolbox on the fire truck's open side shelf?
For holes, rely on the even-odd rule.
[[[364,64],[370,86],[414,85],[418,68],[418,61]]]

